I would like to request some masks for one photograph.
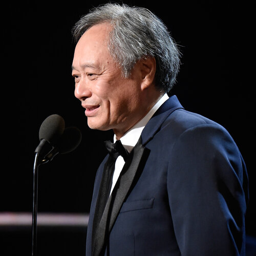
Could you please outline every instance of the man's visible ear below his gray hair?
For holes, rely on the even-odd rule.
[[[154,57],[146,57],[140,61],[141,90],[145,90],[152,84],[154,86],[156,74],[156,59]]]

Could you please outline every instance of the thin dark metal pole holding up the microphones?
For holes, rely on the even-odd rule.
[[[32,214],[32,256],[36,256],[36,219],[37,219],[37,184],[38,184],[38,158],[35,153],[34,171],[33,171],[33,214]]]

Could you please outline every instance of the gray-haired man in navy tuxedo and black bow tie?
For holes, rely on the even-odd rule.
[[[88,125],[113,129],[125,148],[99,166],[87,255],[244,255],[245,164],[221,125],[167,96],[180,62],[161,20],[106,4],[73,33],[75,96]]]

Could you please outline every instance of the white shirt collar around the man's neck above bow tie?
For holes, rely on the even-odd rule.
[[[160,106],[168,99],[168,95],[165,93],[153,106],[153,108],[138,122],[136,123],[129,131],[127,131],[121,138],[121,142],[126,150],[130,153],[133,150],[133,147],[138,142],[142,130],[144,129],[147,122],[155,114],[155,112],[160,108]],[[116,135],[114,135],[114,142],[116,142]]]

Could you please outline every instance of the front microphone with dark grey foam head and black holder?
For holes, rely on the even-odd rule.
[[[61,137],[65,130],[64,119],[57,115],[51,115],[42,122],[39,129],[40,143],[35,149],[40,158],[44,158],[48,154],[56,141]]]

